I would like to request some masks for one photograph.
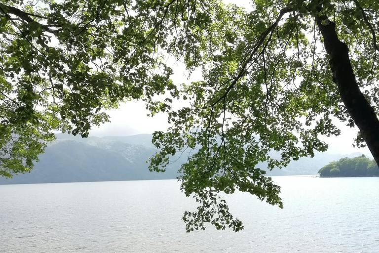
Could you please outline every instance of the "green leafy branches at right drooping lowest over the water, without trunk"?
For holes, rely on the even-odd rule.
[[[204,229],[205,222],[238,231],[243,225],[229,212],[224,194],[248,192],[282,207],[280,187],[259,163],[281,168],[325,151],[320,135],[340,134],[334,118],[354,126],[341,100],[345,91],[330,68],[331,59],[338,59],[327,52],[326,39],[339,38],[341,48],[347,46],[360,90],[377,104],[379,3],[255,0],[247,12],[200,2],[200,9],[211,9],[209,24],[196,31],[198,44],[205,43],[195,53],[201,55],[204,81],[182,86],[188,107],[167,110],[173,127],[154,134],[161,151],[150,168],[159,171],[179,150],[192,154],[180,169],[182,190],[199,203],[185,212],[187,231]],[[320,26],[332,27],[334,34],[324,38]],[[221,41],[213,40],[220,35]],[[187,58],[185,63],[193,66]],[[361,135],[356,141],[363,145]]]

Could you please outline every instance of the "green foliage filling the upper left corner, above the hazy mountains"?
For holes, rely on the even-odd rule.
[[[86,137],[109,121],[102,108],[175,90],[154,40],[143,41],[153,8],[132,9],[107,0],[0,1],[1,175],[30,170],[52,130]]]

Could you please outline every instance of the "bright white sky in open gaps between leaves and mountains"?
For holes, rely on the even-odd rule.
[[[225,0],[226,3],[235,2]],[[238,1],[237,4],[251,9],[248,0]],[[169,59],[170,60],[170,59]],[[188,83],[201,80],[200,71],[195,71],[189,80],[186,77],[186,70],[183,64],[172,62],[171,67],[174,69],[172,80],[175,84]],[[174,105],[175,106],[175,105]],[[175,109],[175,108],[174,108]],[[111,123],[106,123],[100,127],[93,127],[90,136],[127,136],[140,133],[152,133],[157,130],[165,131],[169,127],[167,123],[167,114],[159,113],[154,117],[148,117],[149,112],[145,108],[143,101],[128,101],[120,105],[119,109],[108,111],[111,116]],[[368,148],[354,148],[352,143],[358,129],[345,126],[344,123],[337,119],[335,124],[341,129],[341,135],[326,137],[321,139],[329,144],[329,153],[351,154],[361,152],[370,155]]]

